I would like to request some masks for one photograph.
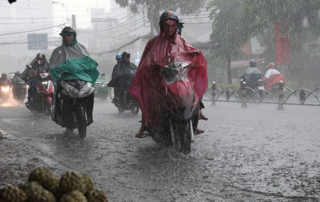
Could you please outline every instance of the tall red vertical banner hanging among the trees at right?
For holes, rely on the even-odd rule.
[[[276,65],[290,64],[289,30],[283,24],[276,23]]]

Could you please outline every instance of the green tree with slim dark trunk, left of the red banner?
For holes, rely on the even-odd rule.
[[[212,34],[210,39],[218,42],[219,50],[212,50],[217,58],[226,61],[228,71],[228,83],[231,83],[231,59],[237,57],[241,47],[250,39],[250,24],[240,18],[243,2],[240,0],[212,0],[208,9],[212,22]]]

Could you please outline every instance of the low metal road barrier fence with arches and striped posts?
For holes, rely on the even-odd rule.
[[[282,86],[283,83],[280,81],[278,86],[270,89],[257,89],[254,90],[243,86],[231,90],[222,90],[216,87],[216,83],[212,82],[212,88],[208,88],[203,97],[203,101],[211,101],[211,106],[216,105],[215,102],[241,102],[242,108],[245,108],[246,103],[268,103],[278,104],[277,110],[283,110],[283,105],[311,105],[320,106],[320,100],[318,93],[320,88],[314,90],[308,89],[297,89],[292,90]]]

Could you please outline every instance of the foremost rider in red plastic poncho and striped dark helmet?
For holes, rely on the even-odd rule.
[[[157,127],[165,113],[181,107],[180,103],[174,101],[179,100],[177,96],[182,87],[179,83],[175,84],[178,93],[167,90],[161,76],[161,66],[173,61],[190,63],[188,78],[193,83],[193,89],[190,90],[195,92],[197,99],[187,100],[184,104],[201,108],[198,100],[208,87],[207,63],[200,50],[193,48],[177,34],[178,23],[179,18],[174,12],[166,11],[160,16],[160,34],[146,44],[137,73],[132,80],[129,92],[139,101],[142,112],[142,124],[136,137],[141,137],[148,128]],[[207,119],[201,111],[200,119]]]

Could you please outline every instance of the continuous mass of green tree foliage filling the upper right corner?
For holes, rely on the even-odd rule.
[[[228,61],[228,54],[236,55],[250,37],[257,35],[266,47],[265,56],[275,62],[275,23],[284,31],[289,29],[291,71],[301,73],[301,66],[309,63],[310,74],[315,75],[316,48],[305,52],[306,42],[316,41],[320,30],[320,1],[317,0],[212,0],[208,8],[213,19],[211,40],[220,43],[216,57]],[[309,59],[313,59],[310,62]],[[303,61],[303,62],[302,62]],[[228,66],[228,62],[227,62]],[[305,70],[305,69],[304,69]]]

